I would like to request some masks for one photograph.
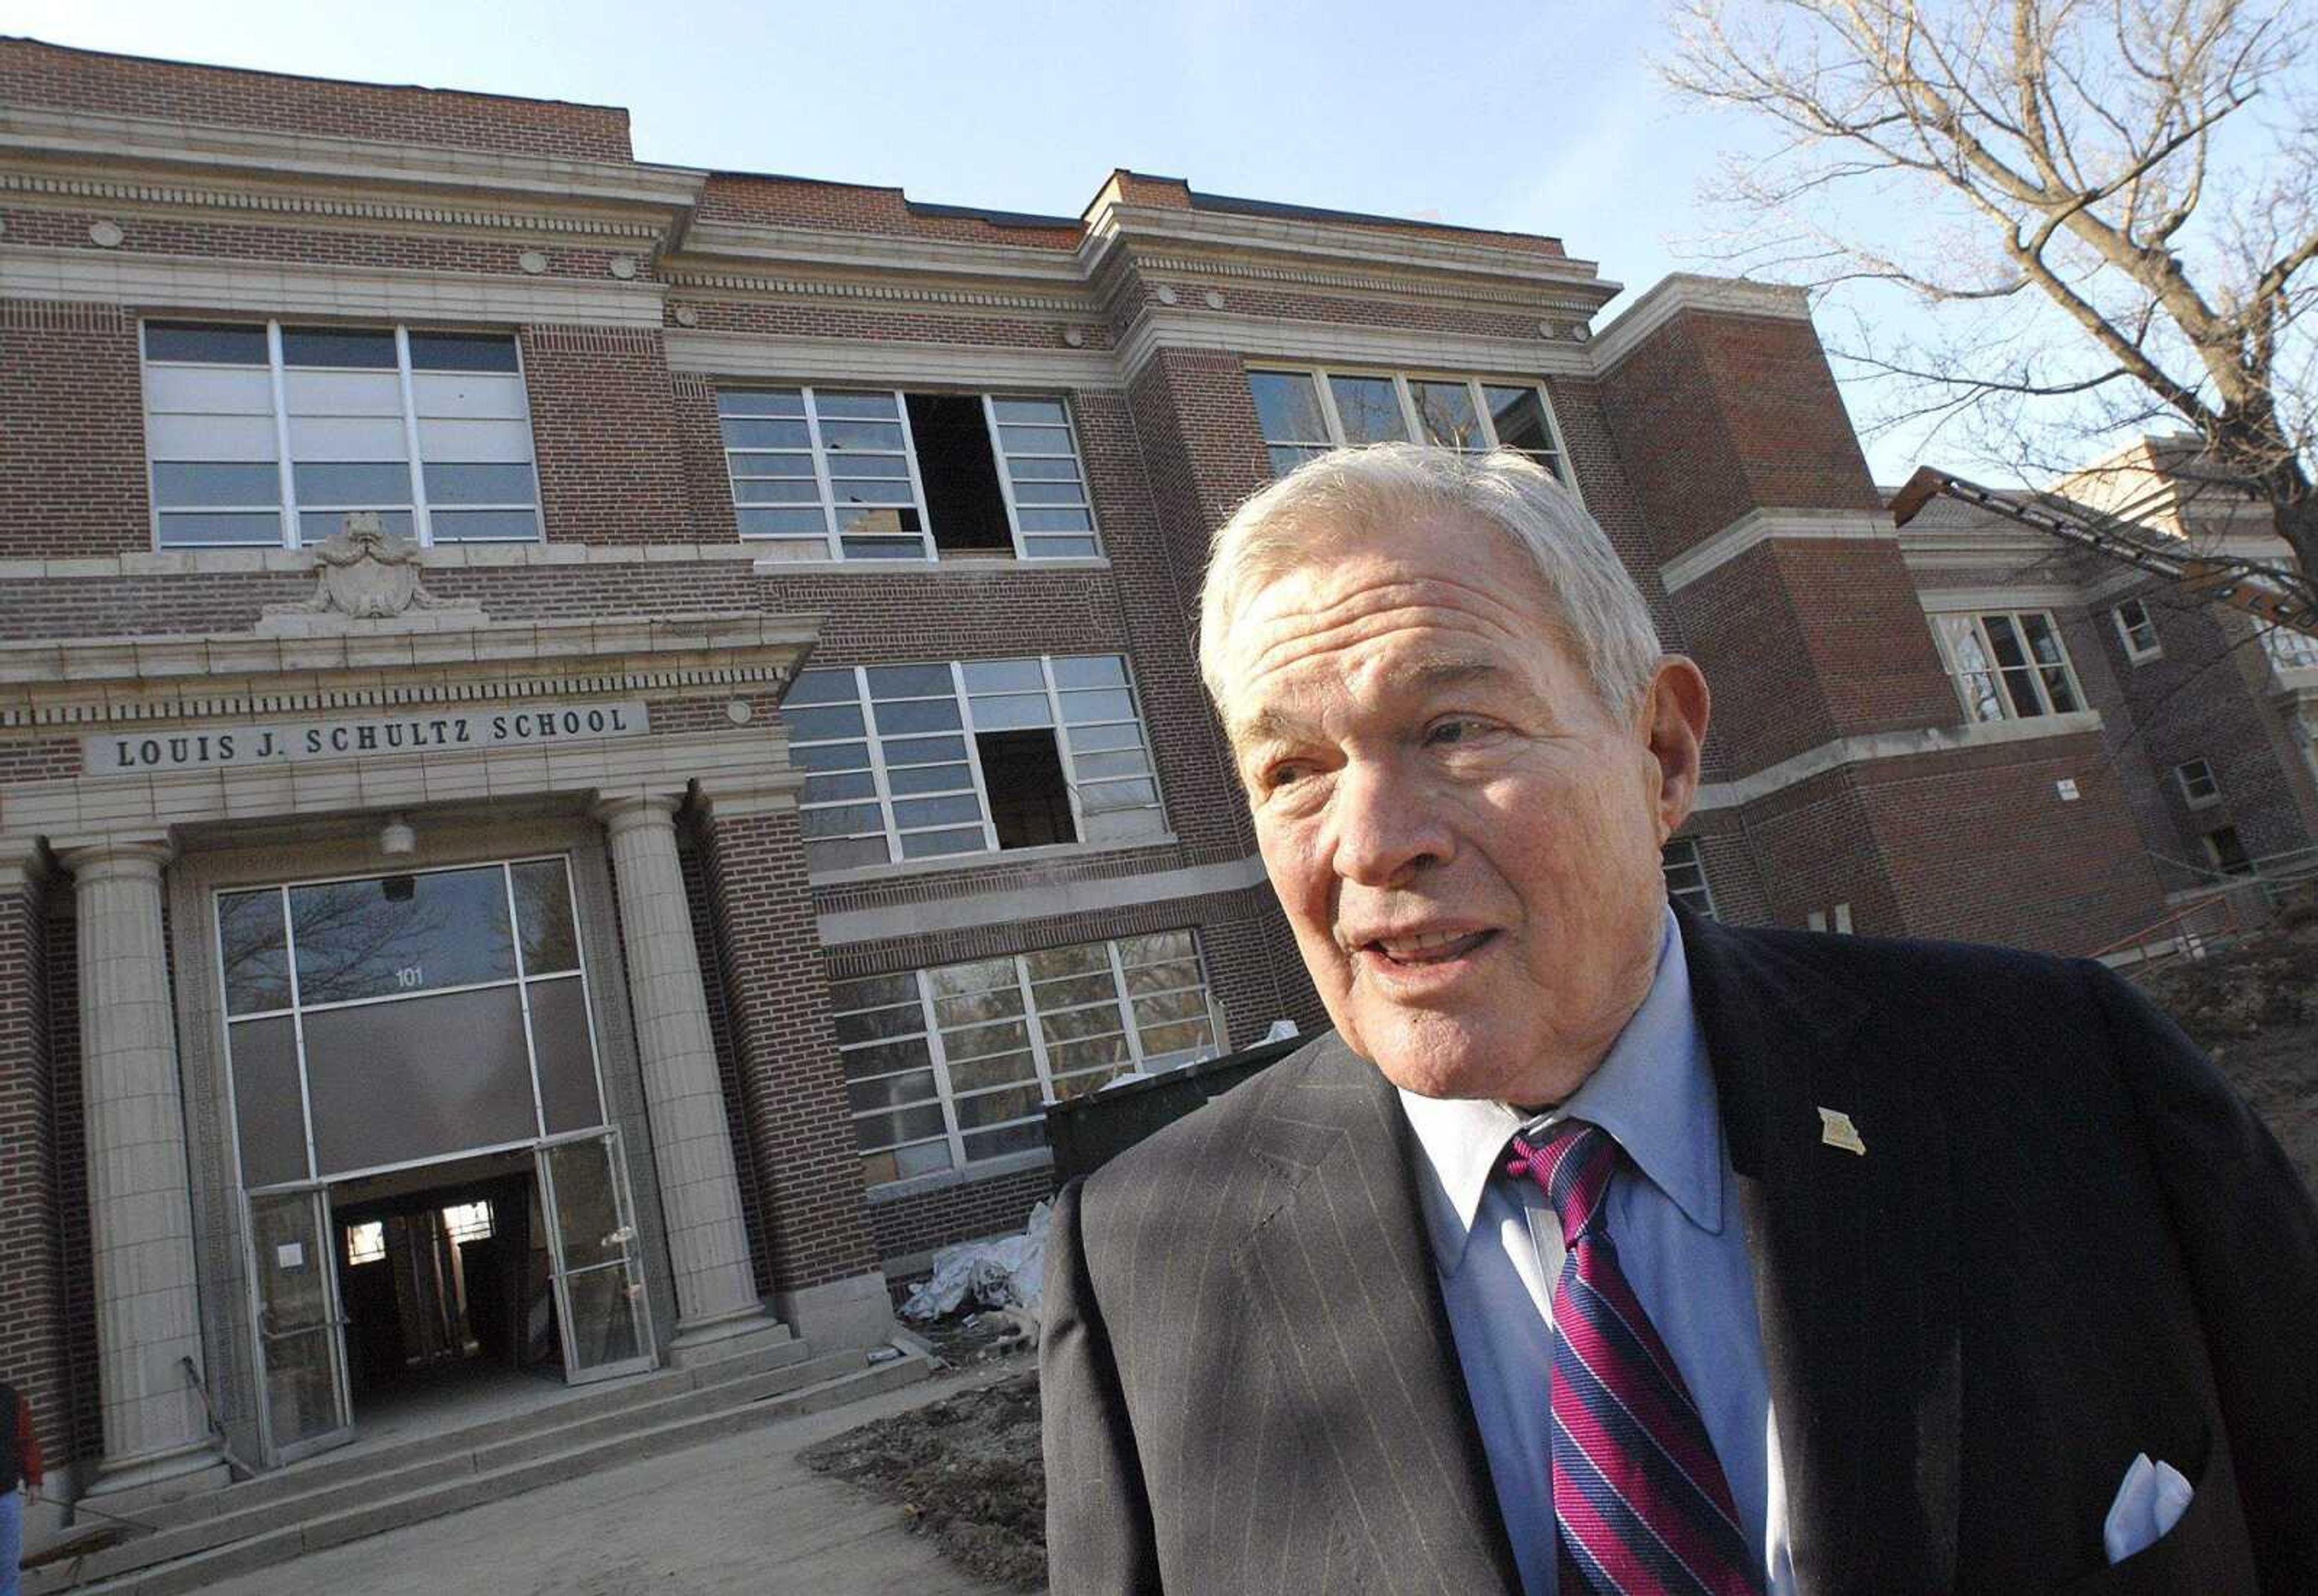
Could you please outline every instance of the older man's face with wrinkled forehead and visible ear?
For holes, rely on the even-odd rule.
[[[1706,683],[1627,723],[1497,530],[1335,542],[1229,637],[1226,725],[1273,889],[1342,1038],[1433,1098],[1558,1103],[1648,994]]]

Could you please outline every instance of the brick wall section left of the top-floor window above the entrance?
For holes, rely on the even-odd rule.
[[[0,299],[0,558],[153,547],[139,382],[121,306]]]

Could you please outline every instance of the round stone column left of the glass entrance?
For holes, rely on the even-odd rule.
[[[202,1316],[185,1181],[185,1103],[160,922],[160,836],[58,852],[79,915],[81,1093],[97,1297],[104,1464],[97,1492],[146,1492],[218,1466],[185,1360]],[[169,1492],[158,1492],[169,1494]]]

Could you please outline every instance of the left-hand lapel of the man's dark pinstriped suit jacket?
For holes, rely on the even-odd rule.
[[[1349,1517],[1368,1584],[1518,1594],[1391,1084],[1328,1038],[1254,1151],[1289,1177],[1240,1267],[1298,1413],[1298,1489]]]

